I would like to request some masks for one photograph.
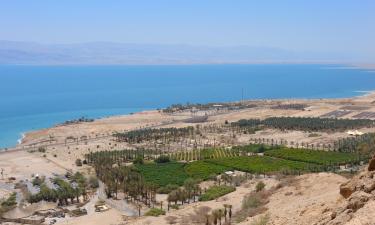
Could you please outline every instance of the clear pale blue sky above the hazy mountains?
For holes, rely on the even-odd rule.
[[[374,0],[4,0],[0,40],[277,47],[375,62]]]

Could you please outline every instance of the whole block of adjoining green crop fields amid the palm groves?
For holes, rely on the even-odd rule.
[[[242,152],[262,152],[264,156],[239,156]],[[235,147],[233,150],[205,149],[204,160],[190,163],[149,163],[136,165],[146,182],[159,187],[168,184],[181,186],[187,178],[207,180],[211,175],[221,174],[228,170],[240,170],[249,173],[268,173],[278,171],[326,170],[330,165],[357,162],[358,156],[352,153],[317,151],[307,149],[290,149],[270,146],[247,145]]]

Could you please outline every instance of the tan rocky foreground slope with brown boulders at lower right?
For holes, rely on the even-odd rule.
[[[351,179],[334,173],[296,177],[270,196],[266,208],[241,225],[375,225],[375,157]]]

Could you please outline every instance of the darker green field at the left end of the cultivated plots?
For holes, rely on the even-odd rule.
[[[154,183],[159,187],[168,184],[183,185],[184,181],[189,178],[184,167],[184,163],[177,162],[136,165],[146,182]]]

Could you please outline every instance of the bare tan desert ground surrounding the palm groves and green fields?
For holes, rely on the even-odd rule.
[[[32,131],[25,134],[22,142],[15,148],[0,153],[0,199],[5,199],[14,191],[14,185],[19,182],[29,182],[38,177],[52,177],[56,174],[81,172],[94,175],[90,165],[77,166],[77,159],[84,159],[86,154],[98,151],[114,151],[122,149],[138,149],[140,147],[162,149],[173,152],[180,148],[192,148],[191,138],[179,139],[168,143],[129,143],[118,142],[113,134],[142,129],[200,127],[202,140],[198,148],[229,147],[253,143],[258,139],[272,139],[287,143],[333,144],[335,141],[350,137],[345,131],[279,130],[266,128],[254,133],[236,133],[220,130],[220,126],[241,119],[266,119],[269,117],[324,117],[339,119],[375,119],[375,93],[347,99],[285,99],[285,100],[254,100],[243,101],[241,108],[215,106],[212,109],[189,109],[176,112],[145,111],[131,115],[114,116],[96,119],[93,122],[56,125],[55,127]],[[303,106],[293,108],[292,106]],[[191,122],[197,117],[205,117],[204,121]],[[190,121],[190,122],[189,122]],[[210,131],[215,127],[214,131]],[[219,127],[219,128],[217,128]],[[211,129],[212,128],[212,129]],[[375,132],[374,127],[360,128],[362,133]],[[313,134],[313,135],[312,135]],[[195,142],[197,142],[195,140]],[[282,142],[281,142],[282,143]],[[309,146],[309,145],[307,145]],[[196,146],[195,146],[196,148]],[[366,165],[360,168],[365,171]],[[262,210],[255,216],[250,216],[238,224],[261,224],[267,219],[267,224],[371,224],[367,216],[374,209],[374,201],[364,204],[358,211],[352,212],[351,220],[342,223],[330,223],[329,218],[335,209],[346,204],[347,200],[340,195],[340,186],[351,178],[335,173],[304,174],[296,177],[257,176],[241,183],[236,190],[211,201],[186,204],[179,209],[171,209],[165,215],[158,217],[134,216],[129,212],[137,212],[135,205],[129,205],[128,210],[118,210],[110,207],[103,212],[95,211],[95,204],[101,198],[98,190],[91,193],[88,201],[82,207],[87,215],[57,219],[56,224],[205,224],[204,214],[212,212],[224,204],[232,205],[233,214],[241,211],[243,199],[254,192],[257,183],[265,184],[266,202]],[[202,184],[200,184],[202,185]],[[212,184],[211,184],[212,185]],[[209,185],[210,186],[210,185]],[[100,189],[100,188],[99,188]],[[22,191],[16,190],[18,199]],[[158,201],[166,201],[166,195],[158,195]],[[369,197],[370,198],[370,197]],[[20,200],[21,201],[21,200]],[[23,200],[24,201],[24,200]],[[18,202],[19,204],[21,202]],[[117,204],[117,203],[116,203]],[[27,204],[26,204],[27,205]],[[26,206],[25,206],[26,207]],[[28,207],[28,206],[27,206]],[[164,206],[165,207],[165,206]],[[35,210],[30,210],[30,215]],[[142,214],[147,210],[143,207]],[[27,213],[25,214],[27,215]],[[195,219],[192,219],[195,218]],[[328,219],[327,219],[328,218]],[[46,219],[48,224],[51,219]],[[190,221],[190,222],[189,222]],[[344,221],[344,222],[343,222]],[[234,221],[233,221],[234,222]],[[258,223],[259,222],[259,223]],[[4,222],[4,224],[13,224]]]

